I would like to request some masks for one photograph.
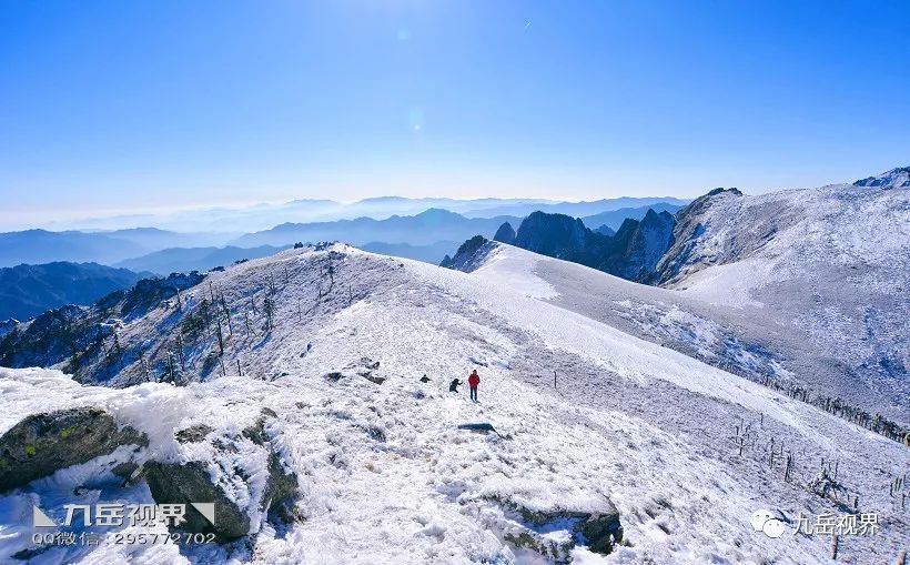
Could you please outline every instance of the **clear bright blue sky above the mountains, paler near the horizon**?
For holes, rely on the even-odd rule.
[[[0,0],[0,226],[908,164],[906,0]]]

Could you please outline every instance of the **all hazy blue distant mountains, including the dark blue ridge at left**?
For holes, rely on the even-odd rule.
[[[526,210],[522,206],[539,206],[547,210],[568,208],[580,213],[641,200],[653,199],[618,199],[590,203],[535,203],[492,199],[445,203],[462,208],[471,206],[475,212],[503,206],[513,211]],[[320,205],[328,205],[326,202]],[[429,202],[441,201],[393,198],[367,200],[362,204],[374,210],[393,210],[406,205],[425,205]],[[661,211],[679,208],[669,202],[657,202],[653,206]],[[623,221],[641,219],[650,209],[648,205],[600,211],[596,215],[586,216],[584,222],[600,230],[598,233],[587,230],[592,233],[590,238],[600,241],[597,239],[606,239],[606,235],[603,235],[604,231],[619,229],[626,233],[620,228]],[[582,223],[579,220],[573,221]],[[226,246],[224,243],[230,238],[228,234],[178,233],[156,228],[107,232],[29,230],[2,233],[0,266],[20,266],[8,269],[8,275],[0,279],[0,320],[7,316],[28,319],[50,307],[91,303],[108,292],[134,283],[139,278],[135,274],[138,272],[161,276],[176,272],[205,272],[216,266],[229,266],[243,259],[272,255],[296,242],[338,240],[358,245],[366,251],[437,264],[446,255],[455,253],[457,242],[477,234],[492,238],[505,224],[512,229],[512,224],[523,225],[524,222],[522,218],[510,215],[468,218],[448,210],[429,209],[416,215],[393,215],[383,220],[358,218],[332,222],[286,223],[262,232],[241,235]],[[530,233],[529,229],[525,229],[525,233]],[[629,231],[629,236],[631,235]],[[625,241],[624,238],[625,235],[610,241]],[[617,256],[621,254],[619,251],[611,253]],[[618,260],[615,262],[619,264]],[[98,263],[117,269],[104,268]]]

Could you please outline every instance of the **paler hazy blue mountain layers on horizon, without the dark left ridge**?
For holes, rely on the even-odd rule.
[[[297,241],[345,241],[355,245],[370,246],[377,252],[438,263],[446,254],[457,249],[459,241],[476,234],[493,236],[503,222],[520,223],[522,218],[542,209],[545,211],[576,210],[579,215],[595,210],[597,214],[584,218],[592,229],[607,225],[618,229],[626,218],[640,219],[649,208],[657,211],[675,211],[679,204],[656,202],[638,208],[619,208],[629,202],[651,201],[656,199],[615,199],[597,202],[548,203],[533,200],[507,201],[499,199],[456,201],[444,199],[401,199],[382,198],[361,201],[364,209],[372,210],[382,216],[390,210],[402,210],[427,204],[446,204],[454,209],[469,209],[465,215],[448,209],[421,208],[414,215],[393,215],[391,218],[356,218],[354,220],[335,220],[325,222],[293,222],[276,225],[269,230],[243,234],[208,232],[201,229],[205,222],[200,220],[186,224],[193,232],[173,232],[159,228],[134,228],[113,231],[63,231],[28,230],[0,233],[0,266],[17,264],[42,264],[53,261],[95,262],[133,270],[148,270],[168,274],[185,270],[205,270],[211,266],[230,263],[243,256],[253,256],[270,250],[243,252],[236,248],[285,248]],[[328,206],[330,201],[299,201],[295,206],[310,209]],[[289,204],[290,205],[290,204]],[[350,206],[345,208],[348,210]],[[503,209],[520,215],[485,215],[491,210]],[[293,206],[292,206],[293,208]],[[269,210],[269,206],[263,206]],[[275,221],[279,216],[273,218]],[[236,224],[229,224],[235,228]],[[219,249],[230,246],[224,251]],[[231,249],[234,248],[234,249]]]

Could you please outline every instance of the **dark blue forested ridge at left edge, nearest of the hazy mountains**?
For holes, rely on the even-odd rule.
[[[0,320],[28,320],[64,304],[91,304],[148,275],[97,263],[54,262],[0,269]]]

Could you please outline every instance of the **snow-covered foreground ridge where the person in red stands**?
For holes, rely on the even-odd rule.
[[[104,544],[41,559],[545,563],[506,541],[528,526],[507,503],[597,512],[609,498],[626,542],[608,556],[582,544],[576,563],[829,563],[830,538],[793,535],[790,526],[772,539],[749,525],[762,507],[789,521],[841,512],[806,486],[822,458],[839,462],[849,496],[882,522],[874,537],[842,538],[841,561],[890,562],[910,544],[907,514],[888,490],[910,466],[906,448],[562,304],[567,295],[539,274],[562,265],[507,246],[471,274],[343,245],[289,250],[211,273],[180,304],[117,322],[120,346],[142,349],[148,365],[133,362],[114,381],[149,373],[158,381],[169,376],[160,360],[173,351],[181,321],[223,294],[232,324],[223,364],[206,362],[219,350],[213,331],[185,342],[176,379],[185,386],[82,386],[57,371],[0,371],[0,433],[31,413],[98,405],[149,435],[140,462],[229,458],[256,476],[253,458],[198,453],[173,433],[196,423],[236,433],[270,408],[282,461],[301,484],[302,519],[286,531],[253,516],[252,535],[224,547]],[[266,295],[276,304],[271,330]],[[375,361],[375,381],[348,369]],[[482,375],[476,405],[447,392],[473,367]],[[326,379],[331,372],[341,376]],[[498,434],[456,428],[472,422],[489,422]],[[740,456],[734,437],[746,425],[750,443]],[[768,463],[771,440],[793,455],[789,483],[780,460]],[[144,483],[87,484],[109,463],[0,497],[0,561],[23,546],[31,504],[53,513],[74,497],[151,502]],[[540,534],[567,535],[559,524]]]

